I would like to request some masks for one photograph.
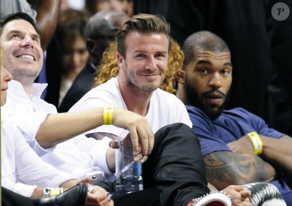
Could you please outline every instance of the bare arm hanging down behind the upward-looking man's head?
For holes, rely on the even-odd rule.
[[[41,31],[41,47],[46,50],[56,29],[61,0],[29,0],[28,3],[36,6],[36,21]]]

